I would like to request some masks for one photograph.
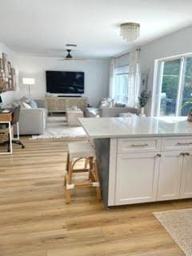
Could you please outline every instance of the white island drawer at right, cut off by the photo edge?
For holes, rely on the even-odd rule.
[[[192,150],[192,137],[163,138],[162,150]]]

